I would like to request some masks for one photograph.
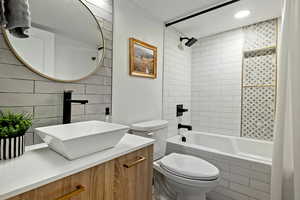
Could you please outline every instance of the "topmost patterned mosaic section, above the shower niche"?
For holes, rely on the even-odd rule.
[[[271,46],[277,43],[277,20],[269,20],[250,25],[244,28],[244,50],[255,50]]]

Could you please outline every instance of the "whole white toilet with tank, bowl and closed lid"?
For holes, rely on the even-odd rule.
[[[155,120],[132,124],[131,133],[156,139],[153,167],[165,177],[165,184],[175,191],[177,200],[205,200],[206,193],[217,186],[219,170],[209,162],[178,153],[165,155],[167,121]]]

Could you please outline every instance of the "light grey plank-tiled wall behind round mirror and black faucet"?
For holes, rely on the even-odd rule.
[[[74,90],[74,98],[87,99],[87,105],[73,105],[73,121],[103,120],[105,107],[111,107],[112,0],[84,0],[102,27],[105,59],[95,75],[75,83],[47,80],[20,63],[0,35],[0,110],[27,112],[34,116],[34,127],[62,123],[64,90]],[[40,143],[31,128],[26,145]]]

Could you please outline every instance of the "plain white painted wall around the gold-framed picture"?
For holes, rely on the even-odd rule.
[[[130,0],[114,1],[113,121],[131,124],[162,118],[163,23]],[[129,38],[158,50],[157,79],[129,76]]]

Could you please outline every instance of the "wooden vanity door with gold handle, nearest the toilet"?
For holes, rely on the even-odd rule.
[[[114,200],[152,199],[153,146],[115,160]]]

